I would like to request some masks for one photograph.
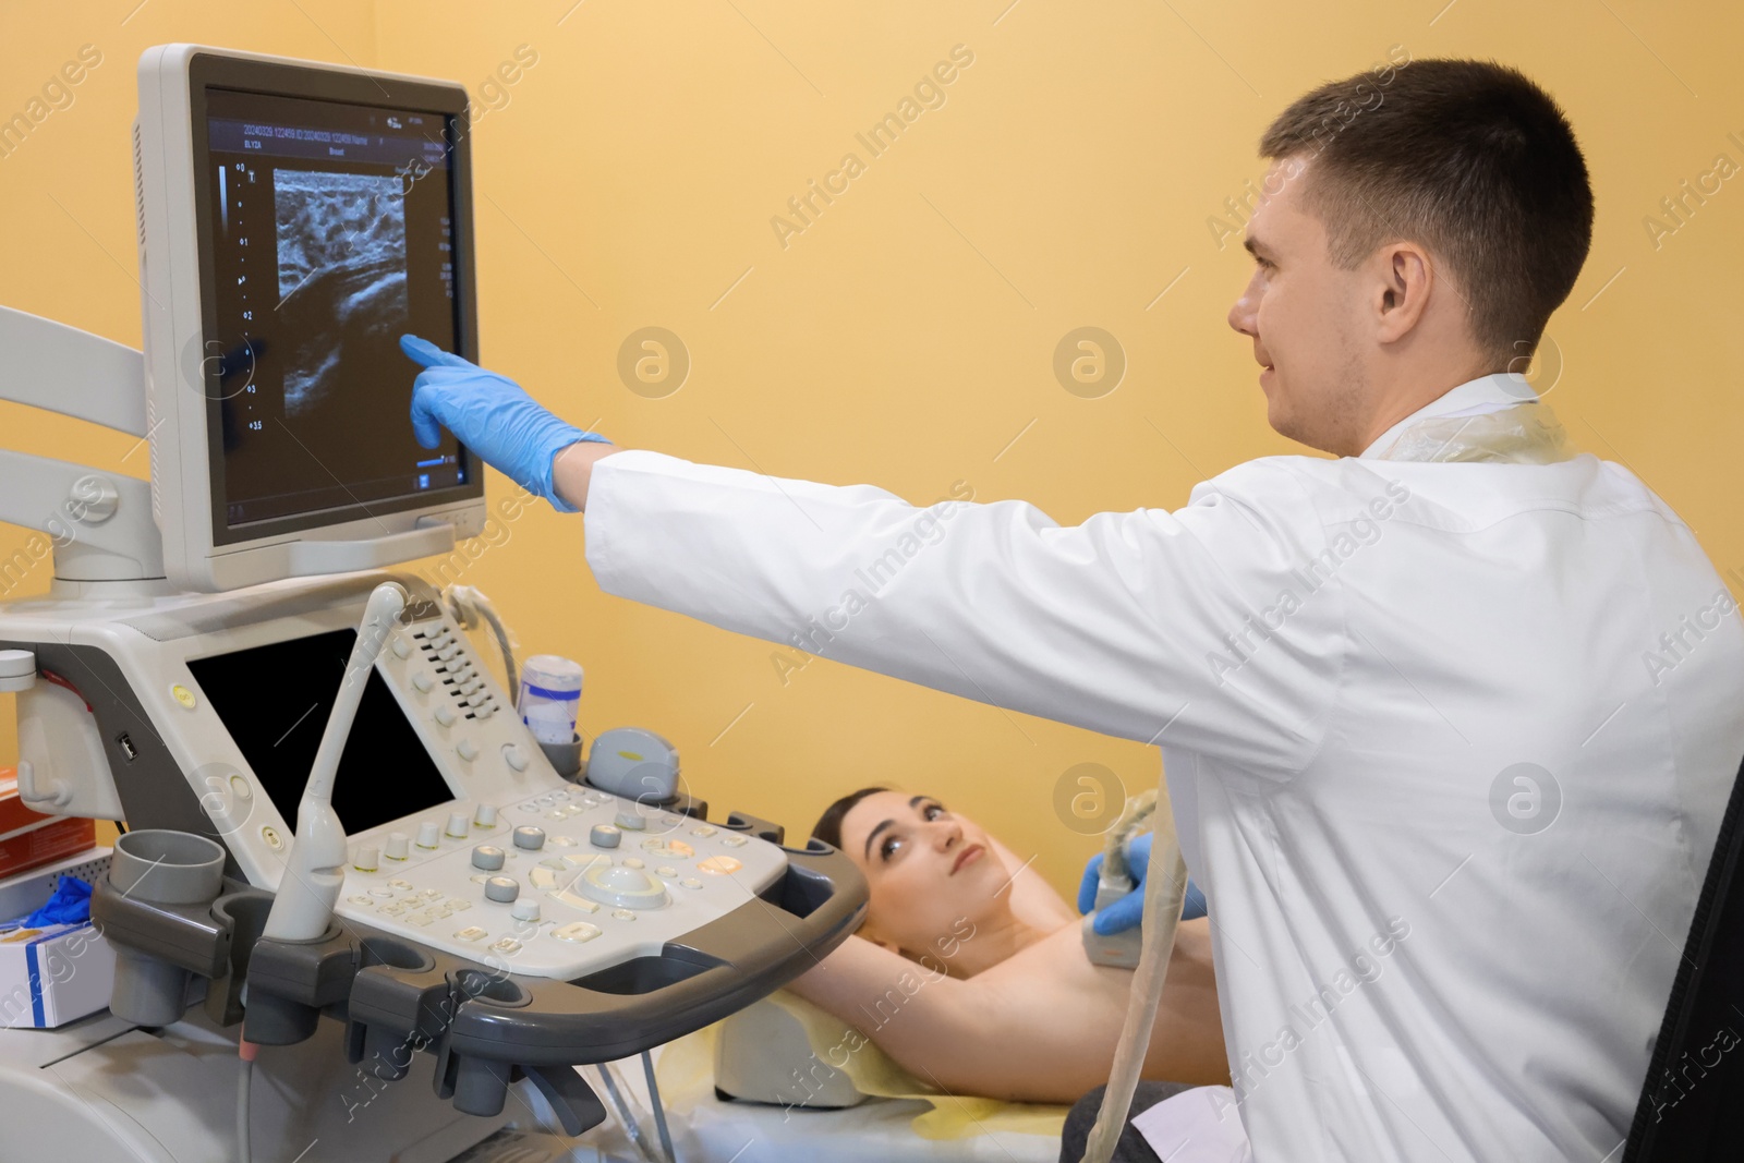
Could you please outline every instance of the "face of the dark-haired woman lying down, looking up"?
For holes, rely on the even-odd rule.
[[[842,851],[872,889],[862,936],[905,954],[938,957],[956,949],[964,921],[1010,908],[1012,872],[987,832],[930,795],[865,797],[842,818]]]

